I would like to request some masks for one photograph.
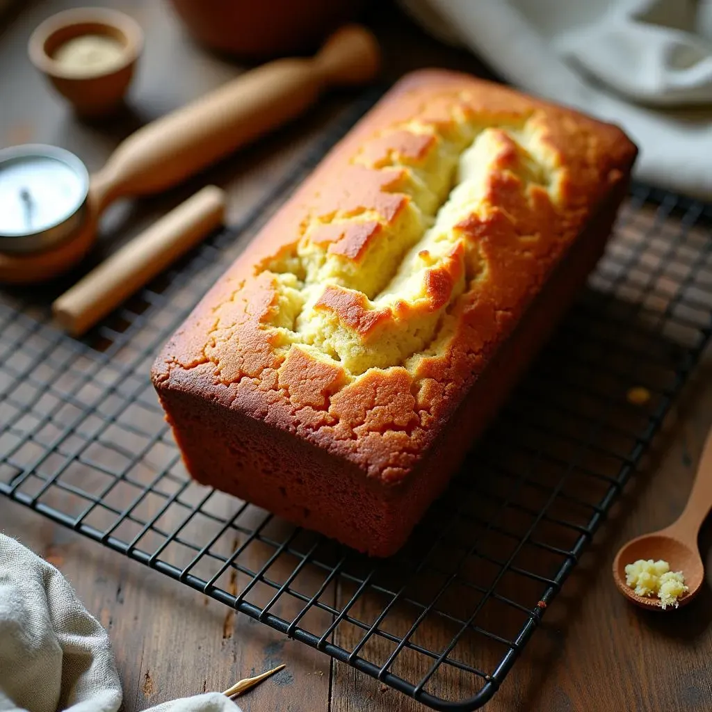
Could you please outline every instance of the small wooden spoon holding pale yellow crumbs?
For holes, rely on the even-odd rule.
[[[678,603],[681,606],[689,603],[698,594],[704,580],[705,568],[697,545],[697,535],[711,509],[712,430],[707,436],[683,513],[669,527],[632,539],[617,553],[613,561],[613,578],[618,590],[643,608],[662,610],[657,597],[639,596],[625,582],[627,564],[639,559],[662,559],[669,563],[671,571],[683,573],[689,591],[678,599]]]

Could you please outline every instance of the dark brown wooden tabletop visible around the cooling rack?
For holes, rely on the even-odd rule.
[[[0,146],[20,142],[60,145],[95,169],[135,127],[219,85],[240,69],[192,43],[162,3],[95,3],[135,16],[147,34],[146,51],[130,108],[104,125],[80,124],[28,63],[26,40],[49,14],[83,4],[26,2],[0,20]],[[426,38],[394,9],[384,9],[370,21],[384,44],[389,80],[419,66],[484,71],[468,54]],[[227,190],[229,219],[235,221],[276,177],[288,172],[309,142],[353,98],[349,93],[331,96],[308,117],[226,160],[189,187],[117,207],[108,221],[109,234],[112,226],[116,226],[115,240],[136,234],[204,182]],[[666,525],[684,505],[712,422],[709,373],[709,360],[703,359],[656,440],[646,470],[627,488],[488,710],[712,708],[709,585],[686,609],[646,614],[622,600],[609,574],[619,545]],[[177,696],[225,689],[241,676],[280,662],[288,664],[288,671],[240,699],[246,711],[422,709],[350,667],[288,641],[223,604],[19,505],[0,501],[0,528],[57,565],[108,628],[124,685],[126,712]],[[706,559],[710,540],[708,531],[703,531]]]

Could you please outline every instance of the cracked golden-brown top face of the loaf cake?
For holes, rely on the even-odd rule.
[[[461,197],[438,184],[446,150],[453,174],[462,159]],[[154,382],[401,481],[634,156],[616,127],[575,112],[466,75],[409,75],[201,301]]]

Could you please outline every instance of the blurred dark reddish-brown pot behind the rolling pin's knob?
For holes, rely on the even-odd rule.
[[[192,35],[234,56],[265,59],[313,51],[367,0],[171,0]]]

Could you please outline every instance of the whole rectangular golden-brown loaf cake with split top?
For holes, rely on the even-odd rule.
[[[407,75],[157,358],[189,472],[394,553],[585,283],[635,155],[503,86]]]

